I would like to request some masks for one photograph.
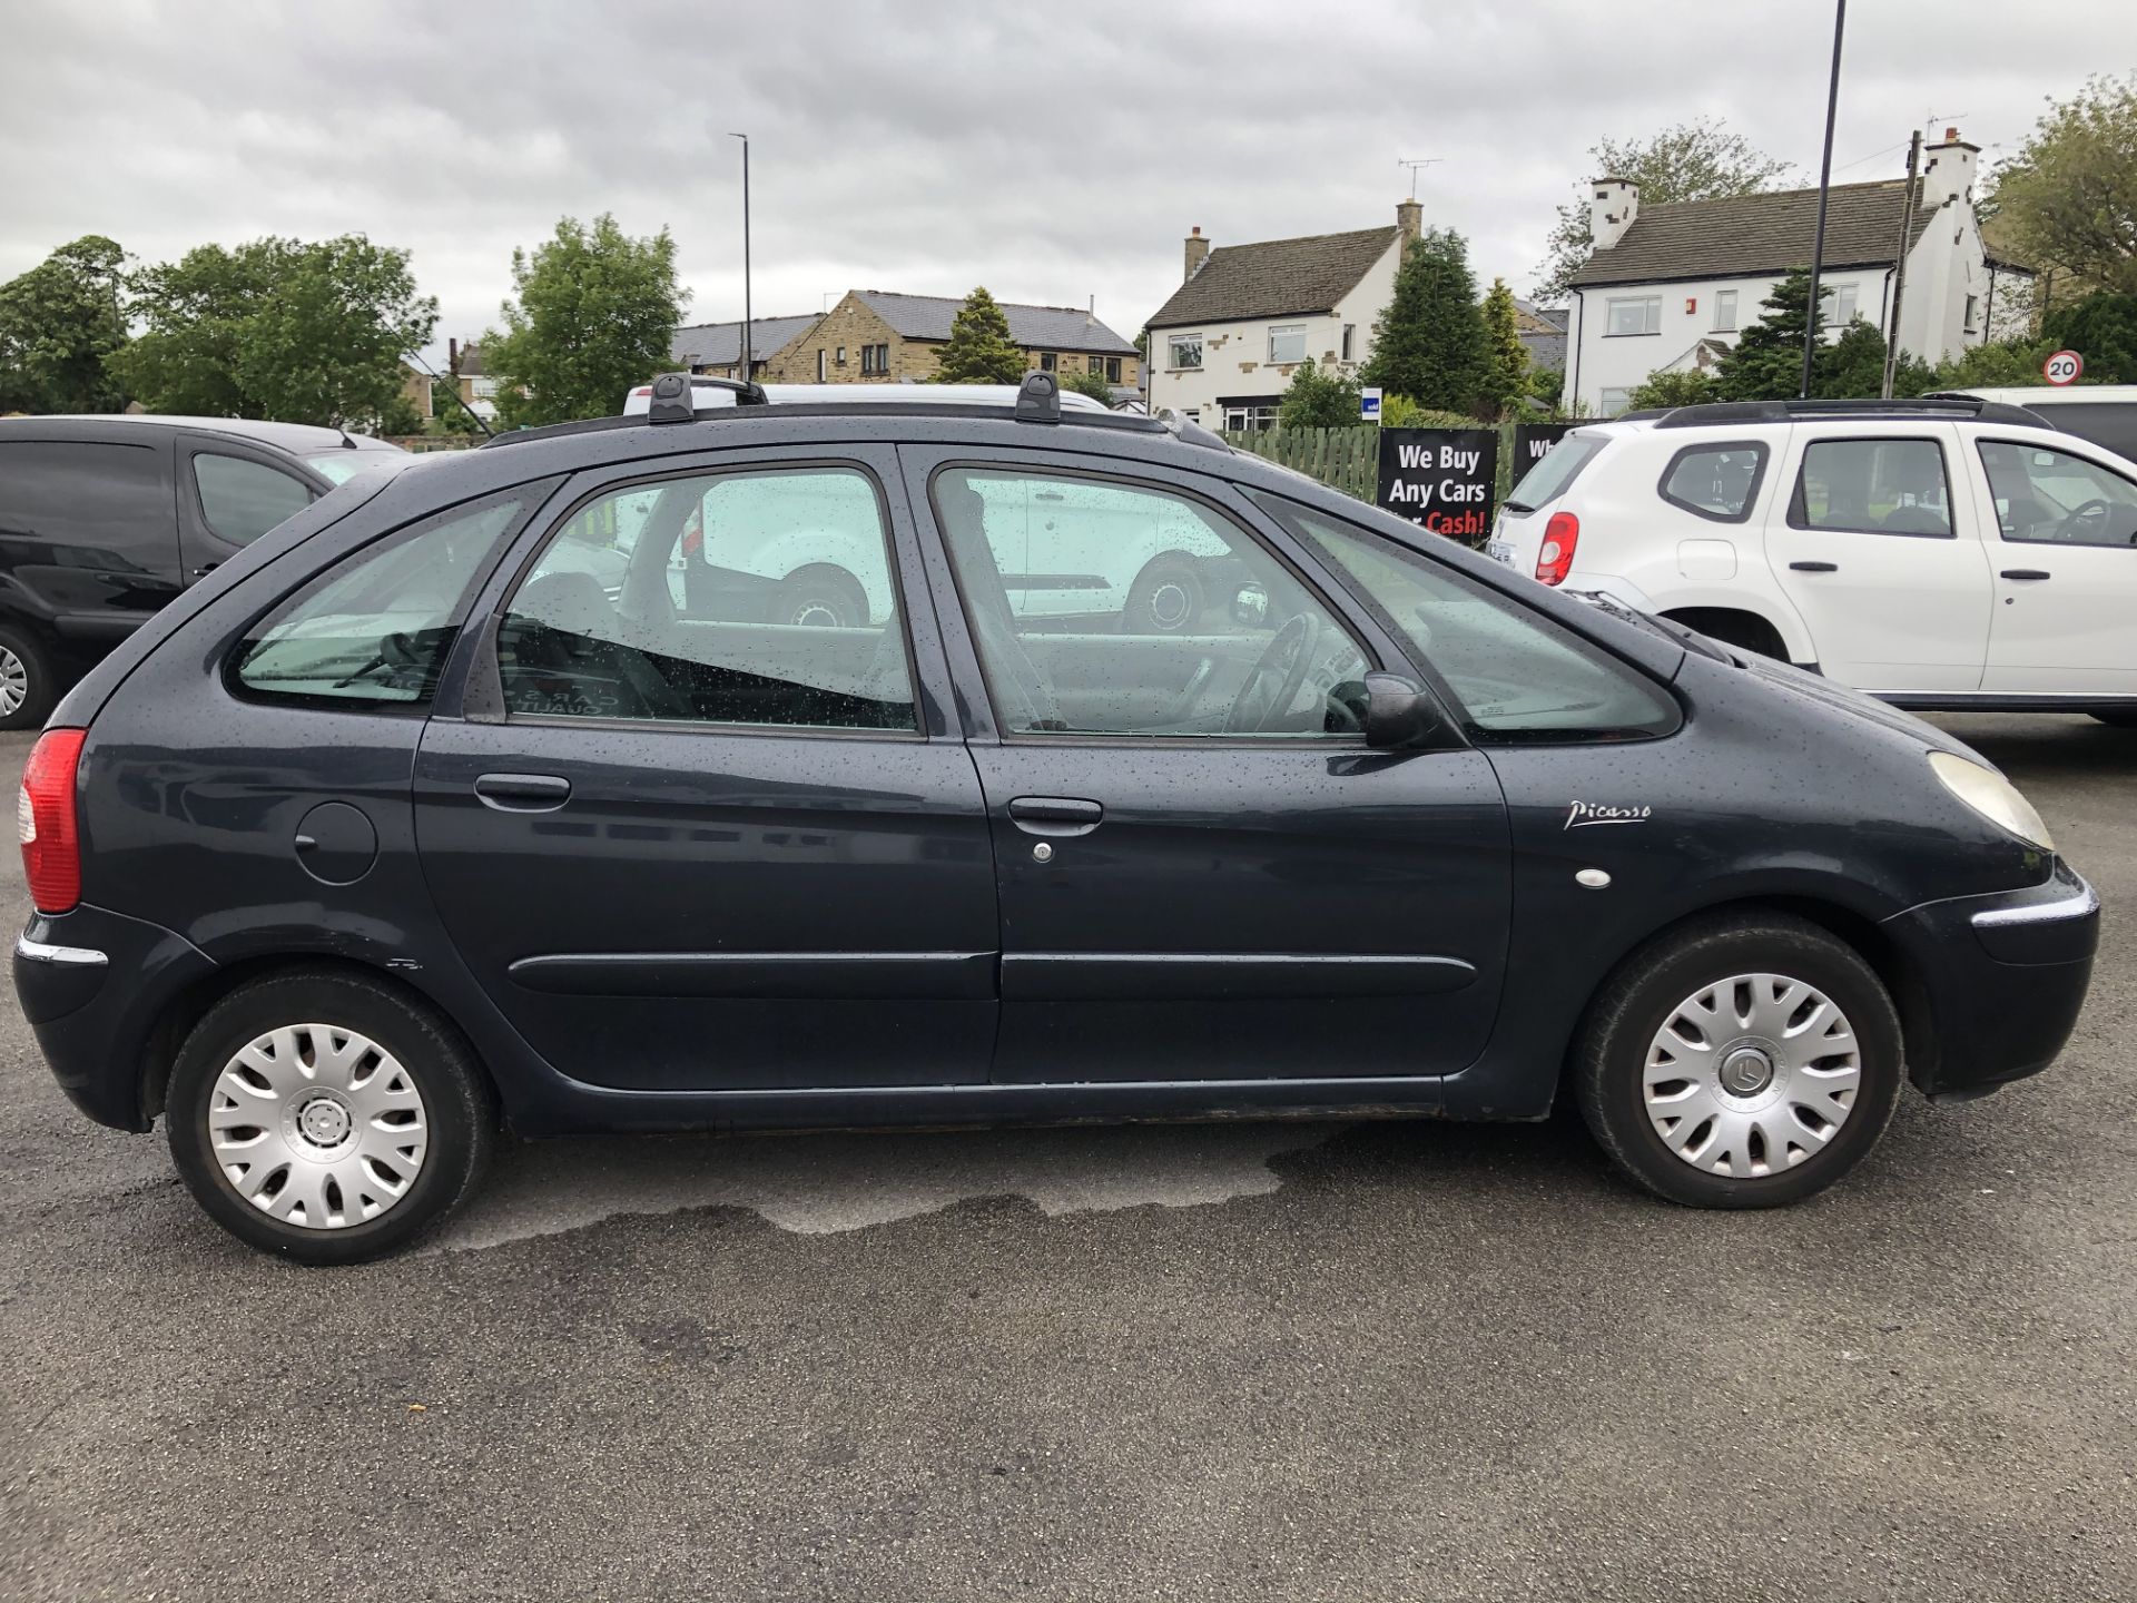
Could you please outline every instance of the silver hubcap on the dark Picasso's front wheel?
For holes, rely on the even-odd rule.
[[[1686,996],[1654,1032],[1641,1077],[1663,1146],[1737,1180],[1823,1152],[1859,1086],[1846,1013],[1787,975],[1737,975]]]

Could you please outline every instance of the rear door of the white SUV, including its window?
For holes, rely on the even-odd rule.
[[[1990,558],[1957,430],[1849,421],[1789,430],[1765,551],[1819,669],[1859,690],[1972,690],[1987,658]]]

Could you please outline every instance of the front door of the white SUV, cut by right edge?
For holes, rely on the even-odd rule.
[[[2137,695],[2137,483],[2081,447],[1979,438],[1968,457],[1996,522],[1981,688]]]

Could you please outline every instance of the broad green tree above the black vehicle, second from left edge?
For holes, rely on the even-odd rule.
[[[363,235],[199,246],[135,274],[141,338],[111,361],[152,413],[374,427],[438,301]]]

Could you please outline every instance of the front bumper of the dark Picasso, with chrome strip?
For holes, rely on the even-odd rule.
[[[2024,891],[1923,902],[1885,919],[1913,958],[1908,1075],[1928,1096],[1964,1099],[2056,1060],[2092,981],[2101,900],[2062,859]]]

